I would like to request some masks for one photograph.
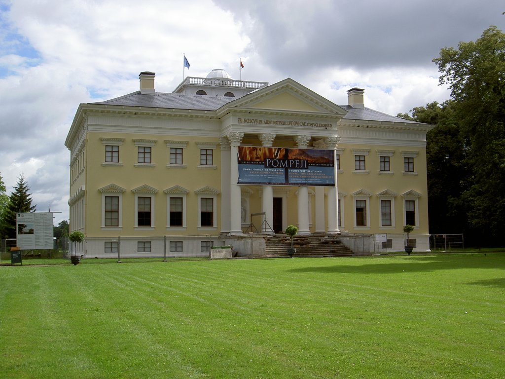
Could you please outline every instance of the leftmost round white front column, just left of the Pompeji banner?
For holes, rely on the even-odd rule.
[[[238,182],[237,146],[244,133],[231,132],[226,135],[230,141],[230,234],[242,234],[240,220],[240,186]]]

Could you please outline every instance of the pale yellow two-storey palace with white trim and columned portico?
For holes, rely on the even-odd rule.
[[[290,78],[269,85],[221,69],[171,93],[156,90],[155,73],[139,80],[138,91],[80,104],[65,141],[70,226],[85,233],[86,256],[114,255],[120,242],[138,256],[222,244],[245,254],[244,235],[290,224],[300,235],[386,234],[382,246],[393,250],[403,250],[402,227],[412,224],[414,250],[429,249],[432,125],[365,107],[360,88],[336,105]],[[258,163],[244,152],[319,150],[330,154],[330,184],[240,178],[249,167],[241,163]]]

